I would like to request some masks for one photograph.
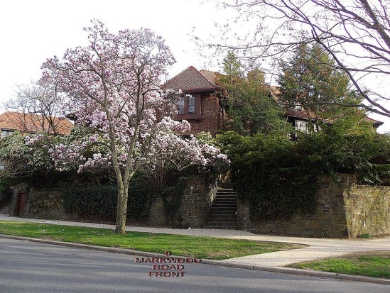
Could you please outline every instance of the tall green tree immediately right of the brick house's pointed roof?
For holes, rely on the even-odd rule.
[[[271,97],[264,73],[259,68],[246,73],[234,52],[228,52],[224,58],[223,74],[218,76],[217,82],[223,89],[222,104],[227,116],[224,130],[244,136],[287,131],[283,110]]]

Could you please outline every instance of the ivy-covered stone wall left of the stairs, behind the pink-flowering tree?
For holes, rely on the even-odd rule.
[[[23,185],[24,186],[24,185]],[[104,221],[114,223],[117,187],[70,186],[27,190],[24,216],[43,219]],[[16,192],[17,193],[17,192]],[[180,228],[202,227],[215,197],[205,178],[180,178],[156,194],[145,184],[129,189],[129,222]]]

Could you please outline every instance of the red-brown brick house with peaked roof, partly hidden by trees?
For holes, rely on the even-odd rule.
[[[220,105],[221,88],[216,82],[217,73],[208,70],[196,70],[190,66],[177,74],[164,84],[163,88],[181,90],[185,96],[178,104],[178,114],[175,120],[187,120],[191,125],[191,131],[185,135],[197,135],[201,131],[210,132],[212,136],[222,127],[224,110]],[[278,101],[278,87],[270,86],[270,96]],[[284,107],[287,121],[303,132],[308,131],[309,121],[313,121],[310,114],[299,106]],[[372,123],[374,128],[383,124],[381,121],[365,117],[364,121]]]

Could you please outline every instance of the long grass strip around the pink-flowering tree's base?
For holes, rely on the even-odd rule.
[[[127,232],[125,235],[118,235],[113,230],[103,228],[60,226],[47,223],[16,221],[0,221],[0,234],[130,248],[152,253],[164,253],[169,250],[173,255],[193,256],[211,260],[238,258],[245,255],[271,253],[279,250],[302,248],[304,246],[291,243],[141,232]]]

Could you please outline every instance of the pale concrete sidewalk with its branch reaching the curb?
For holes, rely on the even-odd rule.
[[[114,225],[100,223],[82,223],[71,221],[55,221],[43,219],[28,219],[9,217],[0,215],[0,220],[8,221],[26,221],[35,223],[52,223],[55,225],[85,226],[95,228],[111,228]],[[346,253],[355,253],[369,250],[390,250],[390,237],[375,239],[323,239],[323,238],[299,238],[288,236],[268,236],[249,233],[239,230],[214,230],[214,229],[171,229],[171,228],[150,228],[126,226],[126,231],[166,233],[190,236],[214,236],[221,238],[248,239],[253,241],[274,241],[300,243],[308,245],[305,248],[279,251],[276,253],[264,253],[260,255],[249,255],[242,258],[232,258],[229,260],[220,260],[235,265],[259,266],[259,267],[284,267],[293,262],[302,262],[305,260],[315,260],[318,258],[327,258]]]

